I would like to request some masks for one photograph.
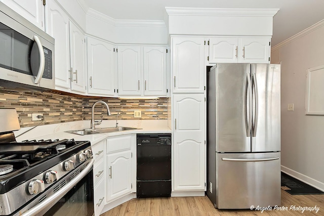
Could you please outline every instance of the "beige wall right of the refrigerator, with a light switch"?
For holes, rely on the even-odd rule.
[[[305,115],[306,70],[324,65],[324,20],[274,47],[271,62],[279,61],[281,169],[324,191],[324,116]]]

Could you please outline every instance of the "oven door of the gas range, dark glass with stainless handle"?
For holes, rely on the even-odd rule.
[[[94,159],[91,159],[87,166],[67,184],[64,185],[60,180],[54,185],[54,188],[60,188],[57,192],[19,215],[93,216],[93,163]]]

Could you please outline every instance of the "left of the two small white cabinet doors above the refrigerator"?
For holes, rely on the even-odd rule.
[[[211,37],[209,39],[209,63],[237,62],[238,39]]]

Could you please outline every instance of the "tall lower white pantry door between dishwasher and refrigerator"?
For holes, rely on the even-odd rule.
[[[173,107],[174,190],[205,190],[205,96],[174,95]]]

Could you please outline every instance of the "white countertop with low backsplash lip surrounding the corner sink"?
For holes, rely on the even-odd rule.
[[[102,124],[96,126],[96,128],[114,127],[115,120],[104,120]],[[112,132],[105,134],[94,135],[76,135],[66,133],[65,131],[72,131],[77,129],[89,128],[90,121],[73,121],[59,124],[40,125],[32,129],[31,131],[19,136],[23,132],[32,127],[24,127],[15,132],[17,142],[23,140],[48,140],[48,139],[74,139],[76,141],[90,141],[92,145],[111,137],[124,134],[142,134],[142,133],[171,133],[171,129],[168,127],[168,120],[118,120],[118,126],[136,127],[141,129]],[[19,137],[17,137],[19,136]]]

